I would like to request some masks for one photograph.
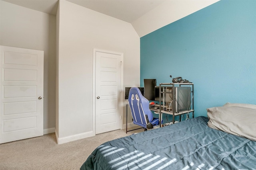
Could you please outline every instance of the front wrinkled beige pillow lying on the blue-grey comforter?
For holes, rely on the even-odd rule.
[[[256,141],[256,109],[212,107],[207,115],[209,127]]]

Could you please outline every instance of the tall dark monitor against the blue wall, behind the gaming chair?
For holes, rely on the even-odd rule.
[[[155,100],[156,79],[144,79],[144,97],[148,100]]]

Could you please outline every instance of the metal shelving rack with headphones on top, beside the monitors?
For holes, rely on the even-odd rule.
[[[181,86],[192,86],[192,91],[191,91],[191,95],[192,95],[192,100],[191,100],[191,105],[190,105],[190,109],[189,110],[185,110],[185,111],[180,111],[180,112],[175,112],[175,105],[174,105],[174,101],[172,102],[172,111],[165,111],[164,110],[164,104],[163,104],[163,110],[162,110],[162,107],[161,107],[161,103],[165,102],[164,101],[164,98],[163,98],[163,101],[162,101],[162,95],[164,96],[164,94],[172,94],[173,96],[173,100],[175,99],[175,94],[174,94],[174,87],[181,87]],[[161,89],[163,88],[163,91],[161,91]],[[165,88],[172,88],[172,92],[165,92]],[[160,83],[159,84],[159,96],[160,96],[160,101],[159,101],[159,113],[166,113],[166,114],[170,114],[172,115],[172,123],[174,124],[174,117],[177,116],[177,115],[180,115],[180,121],[181,121],[181,115],[185,114],[185,113],[191,113],[192,112],[192,117],[194,118],[194,84],[193,83]],[[178,104],[179,105],[179,104]],[[162,120],[162,114],[159,114],[159,120]],[[160,127],[162,127],[162,123],[161,121],[159,121],[159,125]]]

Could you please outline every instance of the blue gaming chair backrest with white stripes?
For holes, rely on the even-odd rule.
[[[146,115],[148,115],[148,121],[152,121],[153,113],[149,109],[149,101],[142,96],[137,87],[130,88],[128,102],[135,122],[146,125]]]

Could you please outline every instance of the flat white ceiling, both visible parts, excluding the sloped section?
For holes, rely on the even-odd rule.
[[[56,15],[58,0],[4,0],[12,4]],[[132,23],[165,0],[67,0],[91,10]]]

